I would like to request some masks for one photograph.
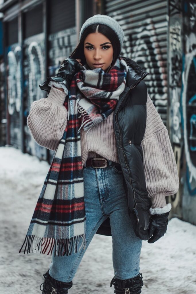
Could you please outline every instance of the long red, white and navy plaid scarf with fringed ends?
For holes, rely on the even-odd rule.
[[[86,248],[86,214],[81,159],[81,127],[85,131],[114,110],[125,88],[128,66],[118,58],[109,73],[85,69],[75,74],[64,106],[68,121],[38,198],[24,254],[70,255]],[[21,249],[19,252],[21,252]]]

